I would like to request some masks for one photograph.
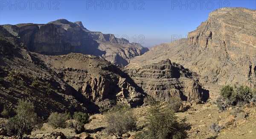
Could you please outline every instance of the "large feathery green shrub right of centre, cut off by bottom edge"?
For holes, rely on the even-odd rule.
[[[187,136],[186,119],[177,121],[174,112],[162,105],[151,106],[145,120],[142,139],[184,139]]]

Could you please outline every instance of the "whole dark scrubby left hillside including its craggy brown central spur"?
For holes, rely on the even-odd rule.
[[[40,116],[54,111],[95,113],[117,102],[143,104],[143,90],[105,59],[32,53],[19,38],[0,30],[0,111],[15,108],[17,100],[25,98],[35,103]]]

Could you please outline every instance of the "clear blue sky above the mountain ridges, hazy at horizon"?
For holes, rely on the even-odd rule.
[[[146,47],[186,38],[211,11],[256,9],[256,0],[0,0],[0,24],[81,21]]]

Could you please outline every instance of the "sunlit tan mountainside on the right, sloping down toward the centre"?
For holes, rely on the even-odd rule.
[[[137,56],[128,68],[142,67],[169,58],[201,76],[199,81],[218,92],[225,84],[256,82],[256,11],[221,8],[209,14],[188,39],[153,47]]]

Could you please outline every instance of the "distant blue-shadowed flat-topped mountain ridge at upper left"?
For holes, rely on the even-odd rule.
[[[47,24],[2,25],[13,36],[20,38],[29,51],[61,55],[83,53],[105,58],[112,64],[126,66],[134,56],[140,56],[148,48],[113,34],[89,31],[81,22],[58,19]]]

